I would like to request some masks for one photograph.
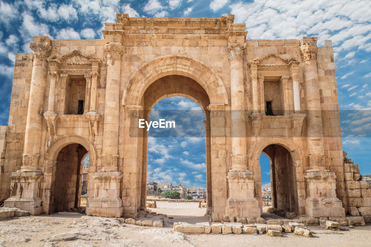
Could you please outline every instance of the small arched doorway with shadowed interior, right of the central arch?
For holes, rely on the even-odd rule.
[[[270,160],[273,207],[288,212],[305,214],[304,161],[298,146],[285,137],[269,137],[255,146],[252,163],[255,172],[255,194],[262,207],[260,154]]]

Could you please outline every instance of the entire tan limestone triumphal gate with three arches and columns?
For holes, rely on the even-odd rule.
[[[78,207],[89,153],[87,214],[135,219],[146,209],[148,151],[138,119],[184,96],[205,113],[213,221],[260,219],[262,152],[279,212],[371,214],[370,184],[344,164],[332,47],[317,47],[317,37],[246,39],[234,15],[116,18],[103,39],[35,36],[33,53],[16,54],[9,124],[0,127],[6,207]]]

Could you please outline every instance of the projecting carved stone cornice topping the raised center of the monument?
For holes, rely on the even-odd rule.
[[[245,33],[245,24],[234,24],[234,15],[221,18],[145,18],[116,14],[117,23],[105,23],[106,35],[227,35]],[[246,32],[247,33],[247,32]],[[233,34],[236,35],[236,34]],[[240,34],[239,34],[240,35]],[[243,34],[242,34],[243,35]],[[245,34],[246,35],[246,34]]]

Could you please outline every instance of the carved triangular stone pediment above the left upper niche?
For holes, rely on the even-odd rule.
[[[98,57],[78,50],[71,51],[62,57],[54,54],[47,60],[50,62],[50,71],[68,75],[99,73],[102,66],[102,61]]]

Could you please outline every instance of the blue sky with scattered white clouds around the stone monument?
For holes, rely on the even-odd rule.
[[[7,125],[8,121],[15,54],[31,52],[29,42],[32,41],[32,36],[49,35],[50,38],[60,39],[102,38],[104,23],[116,22],[116,13],[128,13],[130,17],[192,18],[234,14],[235,23],[246,23],[246,30],[249,31],[247,39],[300,39],[302,36],[316,35],[318,46],[322,46],[324,40],[332,40],[339,106],[342,110],[343,149],[348,152],[348,158],[359,164],[362,174],[371,173],[369,0],[0,0],[0,125]],[[171,104],[176,106],[182,99],[170,98],[163,101],[155,108],[165,109],[162,107]],[[184,98],[183,101],[187,103],[189,100]],[[185,108],[178,105],[178,109],[196,107],[187,104],[184,105]],[[163,144],[159,138],[152,139],[152,142]],[[183,163],[173,159],[170,159],[171,164],[151,161],[149,164],[152,175],[156,171],[158,174],[171,173],[171,179],[177,182],[183,173],[195,172],[193,174],[197,174],[196,176],[202,175],[198,176],[200,180],[191,181],[189,175],[183,176],[183,180],[189,180],[191,185],[204,187],[206,173],[202,171],[201,165],[205,161],[204,156],[198,153],[204,150],[204,143],[190,139],[187,141],[189,144],[182,147],[179,140],[174,139],[171,142],[174,142],[174,148],[165,147],[164,149],[168,149],[167,154],[150,149],[150,159],[166,159],[166,155],[171,155],[180,157]],[[184,156],[184,152],[188,152],[189,156]],[[184,170],[174,170],[173,167]],[[262,173],[263,167],[266,166],[262,166]],[[172,170],[167,172],[167,168]]]

